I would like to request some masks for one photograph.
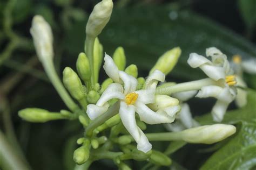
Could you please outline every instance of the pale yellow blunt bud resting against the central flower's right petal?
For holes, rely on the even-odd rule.
[[[173,98],[167,95],[156,95],[155,102],[149,104],[148,106],[150,109],[157,111],[159,109],[171,107],[178,104],[179,100],[177,98]]]

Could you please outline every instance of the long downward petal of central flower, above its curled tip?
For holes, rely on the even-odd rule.
[[[119,115],[123,125],[134,140],[139,141],[140,135],[136,124],[135,110],[134,105],[127,105],[125,102],[120,103]]]

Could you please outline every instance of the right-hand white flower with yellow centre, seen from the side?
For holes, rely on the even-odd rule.
[[[211,56],[211,61],[202,55],[191,53],[187,62],[192,68],[199,67],[203,72],[216,81],[217,85],[201,88],[196,97],[215,97],[217,102],[212,109],[214,121],[221,122],[228,105],[234,100],[237,83],[233,75],[233,69],[227,60],[227,56],[215,47],[206,49],[206,56]]]

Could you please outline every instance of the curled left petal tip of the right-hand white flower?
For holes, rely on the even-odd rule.
[[[188,65],[190,65],[192,68],[200,67],[201,65],[204,65],[205,63],[209,65],[213,65],[213,63],[206,59],[203,55],[198,55],[197,53],[191,53],[190,57],[187,60]]]

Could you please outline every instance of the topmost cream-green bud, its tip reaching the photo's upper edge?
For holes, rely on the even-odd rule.
[[[109,22],[112,9],[112,0],[103,0],[95,5],[86,25],[86,34],[88,36],[97,37],[102,32]]]

